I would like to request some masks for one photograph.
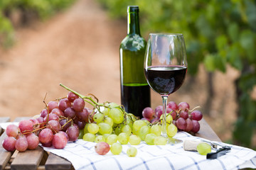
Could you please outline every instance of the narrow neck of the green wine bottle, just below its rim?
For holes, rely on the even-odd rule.
[[[138,34],[139,31],[139,12],[129,12],[127,15],[127,34]]]

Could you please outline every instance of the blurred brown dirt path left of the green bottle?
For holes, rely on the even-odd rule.
[[[18,42],[1,56],[1,116],[36,115],[62,97],[62,82],[100,101],[119,103],[119,42],[126,26],[111,21],[92,0],[45,23],[18,30]]]

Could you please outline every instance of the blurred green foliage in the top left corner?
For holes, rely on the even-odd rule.
[[[0,45],[10,47],[14,43],[14,26],[11,15],[16,11],[23,24],[33,18],[46,19],[70,6],[75,0],[1,0]]]

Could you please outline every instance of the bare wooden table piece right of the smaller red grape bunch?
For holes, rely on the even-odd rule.
[[[210,128],[210,125],[206,122],[206,120],[203,118],[199,121],[200,123],[200,130],[196,133],[196,136],[203,137],[207,140],[213,140],[221,142],[220,138],[216,133],[213,131],[212,128]]]

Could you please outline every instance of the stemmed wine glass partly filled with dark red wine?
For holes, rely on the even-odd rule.
[[[168,143],[181,141],[166,133],[166,105],[170,94],[177,91],[186,77],[186,47],[182,34],[150,33],[144,57],[144,74],[151,89],[163,100],[161,136]]]

